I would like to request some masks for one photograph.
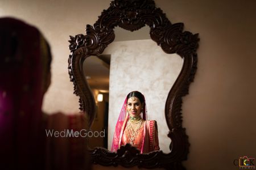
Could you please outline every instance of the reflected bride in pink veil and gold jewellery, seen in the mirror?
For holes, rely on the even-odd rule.
[[[156,121],[147,120],[146,102],[141,92],[130,92],[115,125],[112,151],[130,143],[142,153],[159,150]]]

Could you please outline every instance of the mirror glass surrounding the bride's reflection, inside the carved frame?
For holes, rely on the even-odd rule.
[[[145,97],[148,120],[158,123],[159,147],[170,152],[170,138],[164,115],[166,99],[183,66],[177,54],[166,54],[150,38],[145,26],[130,32],[115,28],[115,41],[101,56],[85,59],[86,79],[96,100],[96,119],[92,131],[105,131],[104,137],[92,137],[89,145],[111,150],[113,134],[125,97],[140,91]],[[102,94],[102,101],[97,100]],[[101,95],[100,95],[101,96]]]

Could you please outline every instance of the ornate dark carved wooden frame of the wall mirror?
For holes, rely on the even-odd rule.
[[[182,126],[182,97],[188,94],[189,84],[196,73],[198,34],[183,32],[183,23],[172,24],[152,0],[114,0],[110,7],[103,10],[94,25],[86,25],[86,35],[70,36],[68,73],[74,84],[74,94],[80,97],[80,110],[84,112],[92,126],[96,115],[96,105],[90,87],[84,76],[83,63],[89,56],[99,56],[114,41],[114,28],[119,26],[136,31],[145,25],[150,27],[150,37],[168,54],[177,53],[183,58],[183,67],[172,86],[166,101],[165,116],[170,153],[154,151],[140,154],[127,144],[117,152],[96,147],[90,150],[90,159],[94,164],[105,166],[184,169],[181,162],[187,159],[189,151],[188,136]],[[160,59],[160,57],[159,57]]]

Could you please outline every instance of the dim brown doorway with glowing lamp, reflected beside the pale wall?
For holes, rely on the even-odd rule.
[[[108,148],[109,69],[110,55],[90,56],[85,59],[85,78],[96,102],[96,117],[91,130],[98,133],[104,131],[105,134],[105,137],[100,137],[100,135],[97,137],[98,133],[89,137],[90,148]]]

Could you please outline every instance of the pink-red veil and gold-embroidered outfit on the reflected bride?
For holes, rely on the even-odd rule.
[[[156,121],[146,120],[146,114],[146,103],[144,103],[143,113],[141,115],[142,119],[145,121],[144,125],[139,128],[138,134],[134,138],[134,141],[131,141],[127,132],[129,114],[126,113],[125,100],[119,114],[117,124],[115,126],[112,143],[113,152],[117,151],[120,146],[126,145],[127,143],[130,143],[132,146],[137,147],[141,154],[159,150],[158,127]]]

